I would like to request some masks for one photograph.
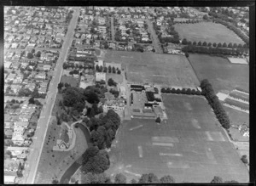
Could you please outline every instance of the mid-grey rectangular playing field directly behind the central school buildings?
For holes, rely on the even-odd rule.
[[[166,86],[196,87],[199,85],[189,61],[182,55],[149,54],[108,50],[105,61],[122,63],[128,82]]]

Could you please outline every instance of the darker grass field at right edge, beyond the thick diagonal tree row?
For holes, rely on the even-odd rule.
[[[229,93],[236,87],[249,92],[249,65],[234,65],[228,59],[203,54],[189,54],[189,61],[198,79],[208,79],[215,93]]]

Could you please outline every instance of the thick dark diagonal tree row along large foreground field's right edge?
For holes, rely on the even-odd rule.
[[[218,121],[225,129],[230,128],[230,119],[227,116],[222,104],[220,104],[218,97],[215,95],[212,85],[207,79],[201,81],[201,94],[206,97],[208,103],[212,106],[212,110],[218,118]]]

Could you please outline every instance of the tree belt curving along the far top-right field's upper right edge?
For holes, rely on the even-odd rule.
[[[249,45],[249,37],[247,37],[247,35],[245,35],[239,28],[236,27],[236,20],[227,18],[224,15],[216,14],[214,12],[209,12],[208,14],[215,18],[216,23],[227,26],[231,31],[234,31],[238,37],[241,37],[242,41],[246,42],[247,45]]]

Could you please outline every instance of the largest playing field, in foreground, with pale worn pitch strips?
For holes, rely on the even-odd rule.
[[[168,121],[131,119],[119,128],[108,174],[131,180],[143,173],[177,183],[209,183],[214,176],[248,182],[248,172],[202,97],[163,95]],[[132,130],[131,130],[132,129]]]

